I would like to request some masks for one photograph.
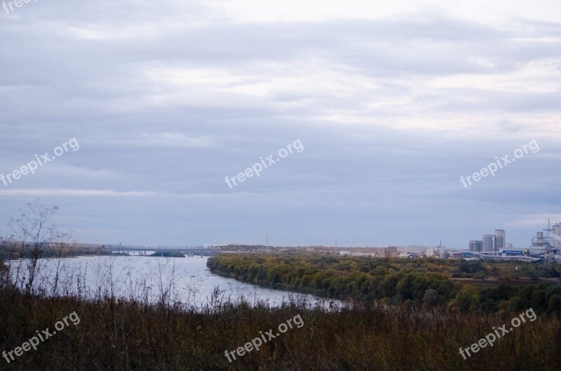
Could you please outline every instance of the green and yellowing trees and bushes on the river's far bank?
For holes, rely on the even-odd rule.
[[[532,307],[536,313],[561,315],[561,285],[539,280],[539,276],[558,276],[559,271],[544,271],[541,264],[300,253],[224,254],[211,257],[207,265],[215,274],[247,283],[367,304],[377,301],[485,313]],[[471,278],[487,278],[494,285],[477,288]]]

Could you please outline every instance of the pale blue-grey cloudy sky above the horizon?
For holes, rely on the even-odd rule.
[[[0,234],[36,198],[127,245],[561,222],[560,1],[4,1],[0,34]]]

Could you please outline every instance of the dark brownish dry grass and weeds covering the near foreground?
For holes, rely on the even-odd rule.
[[[1,265],[1,264],[0,264]],[[1,370],[557,370],[560,320],[539,316],[464,360],[466,347],[511,316],[356,306],[328,312],[304,303],[281,308],[213,297],[194,310],[180,304],[121,301],[110,295],[43,297],[15,290],[0,269],[0,351],[11,351],[76,312],[70,325]],[[229,363],[259,332],[300,315],[293,328]]]

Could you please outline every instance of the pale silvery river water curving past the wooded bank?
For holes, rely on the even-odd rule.
[[[162,300],[180,302],[198,309],[216,306],[216,299],[231,302],[245,299],[250,305],[265,302],[270,306],[280,306],[291,300],[325,308],[330,306],[330,302],[331,306],[340,304],[312,295],[259,288],[217,276],[206,267],[207,259],[199,255],[184,258],[92,256],[40,259],[39,279],[34,289],[46,295],[81,295],[87,299],[112,294],[151,303]],[[28,263],[23,260],[9,264],[14,279],[21,264],[20,285],[25,282]]]

